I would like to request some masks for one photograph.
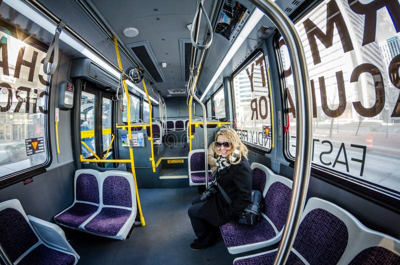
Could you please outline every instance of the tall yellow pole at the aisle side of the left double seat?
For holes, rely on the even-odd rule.
[[[122,69],[122,63],[121,63],[121,58],[119,57],[119,51],[118,51],[118,44],[117,44],[117,40],[116,40],[116,36],[112,36],[112,39],[114,40],[114,45],[115,45],[115,52],[116,52],[116,57],[118,58],[118,66],[119,66],[119,69],[120,70],[123,70]],[[127,127],[128,127],[128,141],[129,141],[129,143],[128,143],[128,146],[129,146],[129,156],[130,156],[130,167],[132,168],[132,175],[133,175],[133,180],[134,180],[134,186],[135,186],[135,189],[136,189],[136,201],[137,201],[137,209],[138,209],[138,211],[139,211],[139,215],[140,215],[140,222],[141,222],[141,225],[145,225],[145,222],[144,222],[144,217],[143,217],[143,214],[142,214],[142,212],[141,212],[141,206],[140,206],[140,199],[139,199],[139,192],[138,192],[138,190],[137,190],[137,182],[136,182],[136,172],[135,172],[135,170],[134,170],[134,159],[133,159],[133,150],[132,150],[132,147],[130,146],[130,141],[131,141],[131,139],[132,139],[132,130],[131,130],[131,124],[130,124],[130,98],[129,98],[129,91],[128,91],[128,88],[126,87],[126,82],[125,82],[125,80],[122,80],[122,83],[123,83],[123,89],[124,89],[124,91],[125,91],[125,95],[126,95],[126,104],[127,104],[127,109],[126,109],[126,111],[127,111],[127,118],[128,118],[128,124],[127,124]]]

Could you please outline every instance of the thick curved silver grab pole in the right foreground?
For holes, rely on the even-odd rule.
[[[284,264],[296,236],[307,194],[312,142],[311,97],[304,51],[293,23],[271,0],[250,0],[271,19],[281,32],[291,59],[296,95],[296,156],[294,161],[293,188],[289,212],[284,226],[274,265]]]

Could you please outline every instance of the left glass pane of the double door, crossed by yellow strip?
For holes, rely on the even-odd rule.
[[[83,141],[94,153],[96,152],[94,136],[94,103],[95,95],[83,92],[80,96],[80,140]],[[92,156],[89,149],[81,144],[83,158]]]

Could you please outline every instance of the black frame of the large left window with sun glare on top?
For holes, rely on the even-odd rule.
[[[24,30],[20,30],[19,28],[15,27],[14,25],[4,21],[3,19],[0,19],[0,31],[3,32],[6,35],[9,35],[11,37],[14,37],[20,41],[23,41],[27,45],[30,45],[31,47],[38,49],[40,51],[46,52],[48,45],[45,43],[39,41],[38,39],[32,38],[31,35],[27,34]],[[45,117],[44,117],[44,132],[43,135],[44,137],[44,142],[46,144],[46,160],[38,165],[31,166],[22,170],[19,170],[14,173],[10,173],[4,176],[0,177],[0,189],[10,186],[12,184],[15,184],[21,180],[31,178],[33,176],[36,176],[38,174],[46,172],[46,169],[48,166],[50,166],[52,162],[52,147],[51,147],[51,141],[50,141],[50,115],[49,115],[49,108],[50,108],[50,97],[52,95],[51,93],[51,87],[53,84],[53,78],[51,76],[47,75],[46,79],[48,85],[46,86],[46,97],[44,101],[45,105]]]

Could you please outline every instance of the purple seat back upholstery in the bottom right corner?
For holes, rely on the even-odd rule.
[[[349,265],[398,265],[400,256],[396,253],[381,247],[371,246],[359,252]]]

